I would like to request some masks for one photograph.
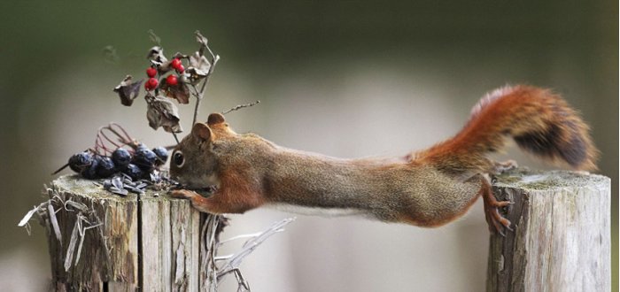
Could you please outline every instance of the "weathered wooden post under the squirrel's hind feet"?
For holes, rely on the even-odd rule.
[[[514,232],[491,235],[487,291],[609,291],[610,180],[581,172],[503,174]]]

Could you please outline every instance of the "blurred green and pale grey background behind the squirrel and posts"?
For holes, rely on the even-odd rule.
[[[260,99],[227,116],[237,131],[342,158],[430,146],[507,83],[554,88],[593,127],[599,173],[612,178],[617,265],[617,1],[27,1],[3,2],[0,16],[0,290],[43,290],[43,228],[28,236],[16,225],[98,127],[117,121],[148,145],[174,142],[148,127],[142,99],[128,108],[112,92],[125,74],[143,76],[149,29],[168,54],[196,50],[199,29],[221,55],[202,119]],[[182,108],[186,128],[190,115]],[[514,149],[500,158],[545,167]],[[298,216],[243,271],[255,291],[481,291],[480,203],[438,229]],[[234,216],[224,237],[289,216]]]

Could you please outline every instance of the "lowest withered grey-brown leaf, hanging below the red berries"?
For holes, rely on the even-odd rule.
[[[149,126],[157,130],[163,127],[168,133],[181,133],[182,127],[179,125],[179,109],[173,102],[165,96],[146,95],[144,99],[147,103],[146,119]]]

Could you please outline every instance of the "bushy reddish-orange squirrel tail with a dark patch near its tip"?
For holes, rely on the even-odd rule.
[[[474,106],[461,132],[416,156],[451,173],[489,171],[485,155],[502,149],[512,136],[522,150],[547,162],[593,170],[598,150],[588,130],[577,112],[550,90],[504,87]]]

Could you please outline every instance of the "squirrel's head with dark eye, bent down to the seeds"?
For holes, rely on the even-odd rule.
[[[194,124],[191,134],[172,152],[170,177],[185,188],[218,185],[218,144],[235,135],[220,113],[210,114],[206,123]]]

